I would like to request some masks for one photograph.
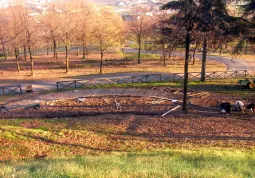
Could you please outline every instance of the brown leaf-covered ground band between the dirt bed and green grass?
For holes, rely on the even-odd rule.
[[[1,119],[0,160],[168,148],[255,148],[255,120],[108,114]]]

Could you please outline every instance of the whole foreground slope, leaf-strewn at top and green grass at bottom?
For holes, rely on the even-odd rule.
[[[233,140],[199,139],[215,129]],[[0,177],[254,177],[253,129],[224,118],[2,119]]]

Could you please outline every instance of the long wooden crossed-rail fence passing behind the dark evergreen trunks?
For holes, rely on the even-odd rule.
[[[63,90],[67,88],[88,88],[97,87],[102,85],[114,85],[114,84],[133,84],[133,83],[150,83],[150,82],[176,82],[182,81],[184,74],[172,73],[172,74],[151,74],[151,75],[139,75],[139,76],[126,76],[126,77],[114,77],[114,78],[99,78],[94,80],[71,80],[71,81],[58,81],[56,83],[57,90]],[[224,72],[210,72],[206,73],[205,78],[210,79],[224,79],[224,78],[244,78],[255,76],[255,71],[224,71]],[[189,73],[189,81],[200,80],[200,72]]]

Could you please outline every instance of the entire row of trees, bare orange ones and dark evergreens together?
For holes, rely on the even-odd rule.
[[[184,99],[183,111],[187,111],[187,83],[190,46],[195,51],[202,46],[201,81],[205,81],[207,47],[219,49],[234,40],[254,39],[254,2],[247,0],[243,6],[243,16],[229,15],[228,1],[222,0],[178,0],[166,4],[163,9],[171,9],[172,15],[162,11],[156,16],[146,15],[137,9],[126,23],[109,7],[97,8],[84,1],[51,3],[47,13],[32,16],[31,10],[16,4],[0,12],[0,43],[4,57],[6,49],[11,49],[19,68],[19,51],[23,48],[27,60],[27,50],[33,75],[32,49],[35,47],[53,48],[54,58],[58,58],[57,47],[65,48],[66,72],[69,71],[69,52],[72,46],[82,47],[85,59],[88,46],[96,45],[100,51],[100,73],[103,57],[110,48],[123,48],[126,40],[133,39],[138,44],[138,64],[141,63],[142,44],[153,40],[162,51],[164,65],[167,53],[177,45],[185,46]],[[247,44],[247,43],[246,43]],[[237,50],[242,45],[238,45]],[[77,51],[79,53],[79,51]],[[193,57],[194,58],[194,57]],[[194,60],[193,60],[194,61]]]

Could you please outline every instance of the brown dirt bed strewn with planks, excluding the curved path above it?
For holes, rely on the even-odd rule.
[[[254,102],[252,96],[242,100],[241,97],[228,98],[220,97],[217,94],[202,93],[202,96],[190,94],[189,96],[189,117],[232,117],[240,119],[254,119],[254,114],[250,111],[242,113],[232,113],[223,115],[219,112],[218,106],[222,101],[235,103],[237,100],[245,104]],[[77,116],[93,116],[102,114],[138,114],[161,116],[170,109],[182,105],[181,94],[173,95],[178,101],[143,98],[132,96],[94,96],[85,98],[72,98],[67,100],[57,100],[46,102],[40,107],[28,107],[5,112],[2,109],[0,118],[61,118]],[[225,100],[224,100],[225,99]],[[182,114],[181,107],[173,111],[171,115]],[[186,116],[185,116],[186,117]]]

